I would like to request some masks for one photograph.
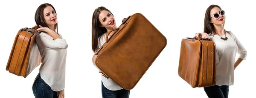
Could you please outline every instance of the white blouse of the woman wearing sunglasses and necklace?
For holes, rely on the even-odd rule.
[[[209,35],[210,39],[216,45],[216,85],[233,85],[234,84],[234,65],[236,62],[236,53],[239,58],[246,60],[247,51],[239,42],[236,36],[228,31],[226,33],[227,41],[221,39],[225,35]]]

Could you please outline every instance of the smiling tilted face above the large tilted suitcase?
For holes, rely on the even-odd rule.
[[[108,11],[101,11],[99,14],[99,22],[102,24],[100,27],[105,27],[107,30],[111,30],[116,26],[114,16]]]

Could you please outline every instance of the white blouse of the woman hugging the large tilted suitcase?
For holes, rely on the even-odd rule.
[[[110,37],[110,36],[108,36]],[[105,41],[106,41],[106,34],[104,33],[103,35],[101,35],[99,38],[98,38],[98,46],[101,47]],[[101,76],[102,78],[102,83],[103,85],[108,89],[108,90],[121,90],[123,89],[122,87],[120,87],[118,84],[116,84],[116,82],[114,82],[112,79],[110,78],[105,78],[104,76]]]

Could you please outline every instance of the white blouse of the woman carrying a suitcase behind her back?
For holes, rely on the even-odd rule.
[[[35,39],[42,57],[42,64],[39,68],[41,78],[53,91],[60,91],[65,88],[68,44],[65,39],[61,38],[53,40],[50,35],[41,32]]]

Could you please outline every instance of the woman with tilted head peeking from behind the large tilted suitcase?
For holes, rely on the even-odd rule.
[[[109,30],[117,28],[116,21],[105,7],[96,8],[92,19],[92,49],[101,47],[105,43],[106,34]],[[108,37],[110,37],[109,35]],[[99,73],[102,73],[99,71]],[[103,98],[129,98],[130,90],[125,90],[102,73],[102,97]]]

